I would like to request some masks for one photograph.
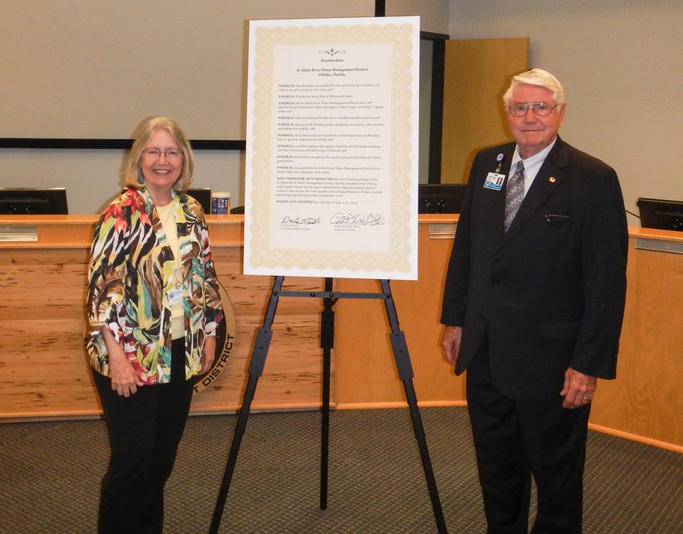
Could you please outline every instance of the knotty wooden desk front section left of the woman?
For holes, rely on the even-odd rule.
[[[97,414],[84,350],[83,248],[8,248],[0,254],[0,413]]]

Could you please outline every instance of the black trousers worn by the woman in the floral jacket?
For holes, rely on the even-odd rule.
[[[162,533],[164,485],[194,387],[194,380],[185,379],[184,339],[173,341],[171,354],[171,382],[139,387],[130,397],[112,391],[109,377],[92,372],[111,451],[100,493],[100,534]]]

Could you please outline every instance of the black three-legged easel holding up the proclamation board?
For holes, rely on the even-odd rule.
[[[320,334],[320,345],[323,350],[320,508],[322,510],[327,509],[327,463],[329,458],[329,382],[330,362],[332,355],[331,351],[332,347],[334,346],[334,312],[332,311],[332,306],[334,306],[339,298],[382,298],[384,300],[384,308],[386,309],[389,325],[391,326],[390,337],[391,347],[393,349],[393,357],[396,361],[398,377],[401,379],[401,382],[403,382],[403,389],[406,392],[408,407],[411,411],[413,431],[415,432],[415,439],[418,441],[418,448],[420,449],[420,458],[422,459],[422,466],[425,471],[425,479],[427,481],[429,496],[432,501],[436,526],[439,534],[446,534],[446,523],[443,518],[443,510],[441,508],[438,489],[436,488],[432,463],[429,458],[427,441],[425,439],[425,431],[422,424],[422,419],[420,418],[420,412],[418,410],[418,400],[417,397],[415,397],[415,387],[413,387],[413,366],[411,365],[411,358],[408,354],[406,336],[398,328],[396,305],[393,303],[389,281],[380,281],[382,286],[381,293],[334,293],[332,291],[332,278],[325,278],[324,291],[283,291],[283,280],[283,276],[275,276],[275,280],[273,281],[272,285],[272,291],[270,293],[270,300],[268,300],[268,308],[266,308],[265,317],[263,318],[263,328],[258,330],[256,342],[251,353],[251,360],[249,362],[248,369],[249,380],[244,392],[242,407],[240,408],[237,424],[235,425],[235,435],[233,436],[230,454],[228,455],[226,471],[223,474],[221,489],[218,491],[216,508],[213,510],[213,519],[211,520],[209,534],[218,534],[218,529],[221,526],[223,508],[226,506],[228,489],[230,488],[230,483],[233,478],[233,471],[235,470],[235,463],[237,462],[237,455],[240,450],[245,428],[247,426],[247,418],[249,417],[251,402],[254,399],[256,383],[258,382],[258,377],[263,374],[265,357],[268,355],[268,348],[270,347],[270,340],[272,338],[272,321],[273,318],[275,318],[277,301],[280,299],[280,297],[308,297],[323,299]]]

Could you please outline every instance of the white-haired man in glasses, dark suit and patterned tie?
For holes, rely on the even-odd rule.
[[[516,143],[472,164],[442,346],[457,375],[467,369],[487,532],[526,534],[533,474],[531,532],[580,533],[591,399],[597,378],[616,375],[623,197],[612,168],[558,137],[566,103],[553,75],[515,76],[503,100]]]

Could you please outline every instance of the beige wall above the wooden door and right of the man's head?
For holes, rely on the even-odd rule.
[[[451,38],[530,38],[531,67],[550,70],[567,93],[561,135],[617,170],[636,213],[638,197],[683,200],[681,28],[678,0],[450,4]]]

